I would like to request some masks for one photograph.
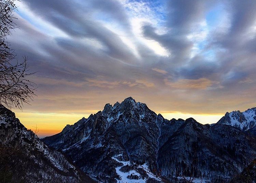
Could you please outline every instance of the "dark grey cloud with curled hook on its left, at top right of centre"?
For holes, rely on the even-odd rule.
[[[208,1],[209,4],[212,4],[211,1]],[[156,40],[167,48],[171,53],[167,62],[171,67],[173,65],[175,68],[179,67],[189,60],[193,41],[189,40],[187,36],[189,33],[193,33],[204,20],[206,10],[206,1],[203,0],[167,1],[168,32],[159,35],[156,33],[156,28],[146,24],[143,26],[144,36]]]

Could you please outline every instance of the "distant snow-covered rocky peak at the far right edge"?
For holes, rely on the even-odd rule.
[[[243,131],[248,131],[256,127],[256,107],[244,112],[232,111],[226,113],[217,124],[226,124]]]

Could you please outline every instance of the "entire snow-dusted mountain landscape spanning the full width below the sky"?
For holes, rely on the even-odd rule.
[[[256,179],[255,116],[252,108],[211,125],[167,120],[129,97],[40,140],[0,105],[0,182]]]

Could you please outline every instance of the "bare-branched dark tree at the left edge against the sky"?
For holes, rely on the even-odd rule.
[[[16,59],[16,53],[10,48],[6,37],[16,28],[13,12],[15,0],[0,0],[0,103],[7,107],[18,107],[29,103],[35,96],[35,84],[28,80],[27,57],[23,61]]]

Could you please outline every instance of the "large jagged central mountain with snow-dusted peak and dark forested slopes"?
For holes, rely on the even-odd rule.
[[[167,120],[131,97],[41,140],[108,183],[158,182],[147,169],[174,182],[180,176],[223,181],[256,157],[254,140],[238,128]]]

